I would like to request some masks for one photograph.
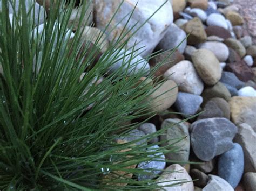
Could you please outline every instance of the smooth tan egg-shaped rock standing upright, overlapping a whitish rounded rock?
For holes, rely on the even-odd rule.
[[[199,76],[207,85],[211,86],[219,81],[221,77],[220,63],[211,51],[207,49],[194,51],[192,61]]]

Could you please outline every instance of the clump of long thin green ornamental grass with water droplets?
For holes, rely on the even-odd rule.
[[[129,123],[133,119],[154,115],[149,95],[161,83],[154,79],[156,69],[136,70],[142,60],[131,62],[141,49],[126,47],[130,31],[100,53],[103,33],[93,44],[83,38],[89,3],[80,5],[73,33],[68,25],[74,1],[56,1],[47,16],[33,9],[35,1],[0,2],[0,189],[160,188],[155,180],[138,181],[139,174],[151,172],[136,165],[163,161],[152,155],[166,148],[149,157],[147,150],[156,143],[120,138],[138,127]],[[122,66],[110,73],[117,60]]]

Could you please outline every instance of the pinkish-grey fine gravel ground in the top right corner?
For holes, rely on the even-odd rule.
[[[245,19],[244,33],[250,34],[256,43],[256,0],[234,0],[234,4],[240,5],[240,13]]]

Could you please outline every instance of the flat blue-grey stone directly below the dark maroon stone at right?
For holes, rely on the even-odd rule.
[[[237,89],[240,89],[245,86],[245,83],[239,80],[238,77],[234,75],[234,73],[226,71],[222,72],[220,82],[226,83]]]

